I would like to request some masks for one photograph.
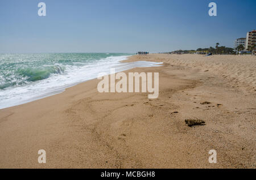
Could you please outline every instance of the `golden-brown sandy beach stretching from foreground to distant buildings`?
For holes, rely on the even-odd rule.
[[[98,93],[94,79],[0,110],[0,168],[255,168],[256,57],[134,55],[164,62],[159,97]],[[205,126],[188,127],[187,118]],[[46,151],[46,164],[38,151]],[[208,162],[210,149],[217,163]]]

